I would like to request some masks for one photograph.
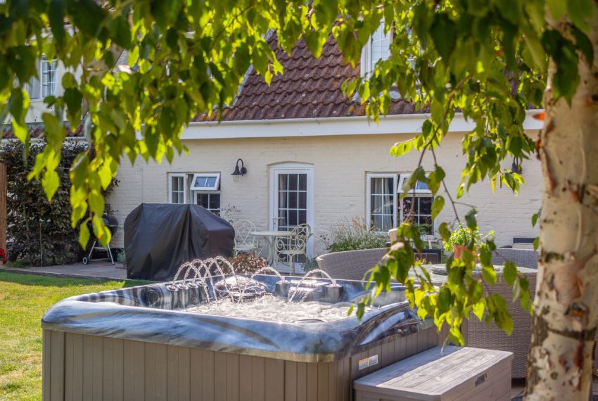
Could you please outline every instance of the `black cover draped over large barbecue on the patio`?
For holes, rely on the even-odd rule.
[[[168,281],[193,259],[229,257],[234,229],[199,205],[141,203],[125,219],[127,278]]]

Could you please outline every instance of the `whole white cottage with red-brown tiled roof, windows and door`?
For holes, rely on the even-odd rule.
[[[364,49],[361,65],[343,62],[332,39],[322,57],[311,56],[305,43],[298,42],[291,56],[278,50],[284,75],[267,86],[255,72],[246,81],[222,121],[202,115],[184,129],[188,155],[172,164],[143,160],[120,167],[120,185],[108,199],[122,225],[125,217],[142,202],[198,203],[214,212],[234,208],[238,218],[250,219],[257,229],[286,229],[307,222],[322,236],[332,224],[360,217],[386,231],[402,219],[402,180],[416,166],[418,153],[392,157],[390,147],[414,136],[426,118],[407,101],[393,101],[390,114],[380,123],[368,121],[360,103],[345,98],[341,84],[371,70],[388,44],[374,35]],[[275,39],[271,39],[275,46]],[[526,120],[535,135],[541,123]],[[447,172],[447,184],[454,191],[466,160],[461,140],[472,126],[457,115],[450,134],[438,149],[439,163]],[[509,161],[509,166],[511,162]],[[243,176],[231,175],[245,167]],[[424,158],[424,168],[431,168]],[[482,231],[495,230],[499,246],[514,237],[534,237],[530,217],[540,208],[542,177],[537,160],[523,161],[526,184],[519,196],[510,189],[492,193],[489,183],[473,186],[457,205],[463,214],[470,205],[479,210]],[[416,215],[431,223],[431,194],[417,193]],[[440,220],[454,219],[445,207]],[[432,227],[433,223],[432,223]],[[122,227],[113,246],[123,246]],[[310,244],[309,252],[325,251],[322,242]]]

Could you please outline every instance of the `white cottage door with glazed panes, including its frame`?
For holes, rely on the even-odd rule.
[[[310,165],[276,165],[270,174],[270,229],[291,231],[298,224],[314,230],[314,169]],[[312,255],[313,241],[307,243]]]

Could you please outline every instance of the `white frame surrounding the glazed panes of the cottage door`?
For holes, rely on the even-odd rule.
[[[270,196],[269,196],[269,230],[277,230],[278,227],[274,224],[274,217],[278,217],[278,210],[276,210],[277,199],[278,199],[278,180],[276,174],[307,174],[307,211],[305,212],[305,220],[307,224],[310,224],[312,228],[312,234],[314,232],[314,165],[307,163],[280,163],[276,165],[270,165]],[[276,216],[274,215],[276,213]],[[307,255],[311,257],[313,255],[313,241],[307,241]]]

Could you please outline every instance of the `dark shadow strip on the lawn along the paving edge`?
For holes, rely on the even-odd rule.
[[[114,283],[114,288],[143,286],[144,284],[151,283],[151,281],[144,280],[77,279],[75,277],[40,276],[37,274],[20,274],[0,270],[0,284],[3,282],[40,287],[73,287]]]

